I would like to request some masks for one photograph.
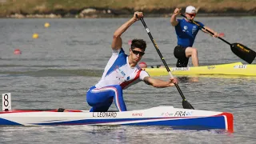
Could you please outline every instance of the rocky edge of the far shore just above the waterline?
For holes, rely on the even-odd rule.
[[[127,13],[122,10],[97,10],[97,9],[85,9],[79,13],[72,13],[70,11],[62,11],[60,13],[46,13],[46,14],[10,14],[6,17],[0,18],[130,18],[133,13]],[[145,17],[155,18],[169,18],[171,14],[164,11],[150,12],[145,10]],[[205,12],[201,11],[197,14],[197,17],[246,17],[246,16],[256,16],[255,13],[246,11],[229,11],[229,12]]]

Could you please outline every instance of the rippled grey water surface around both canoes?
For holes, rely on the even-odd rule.
[[[102,19],[1,19],[0,92],[12,94],[15,109],[85,109],[86,90],[101,77],[108,58],[114,30],[127,18]],[[169,66],[174,66],[176,46],[169,18],[145,18],[151,34]],[[226,34],[229,42],[240,42],[256,50],[256,18],[197,18],[206,26]],[[45,22],[50,27],[45,28]],[[37,33],[38,39],[32,34]],[[122,36],[128,41],[147,42],[142,61],[161,64],[141,22]],[[243,62],[230,46],[199,32],[195,47],[201,65]],[[15,49],[22,54],[13,54]],[[246,62],[243,62],[246,63]],[[253,62],[256,63],[255,61]],[[190,63],[191,66],[191,63]],[[160,77],[167,80],[168,77]],[[179,86],[198,110],[234,114],[234,134],[217,130],[172,130],[158,126],[26,126],[2,127],[0,143],[254,143],[256,130],[256,78],[220,76],[180,78]],[[171,105],[182,107],[175,87],[156,89],[143,82],[124,90],[128,110]],[[115,110],[114,106],[111,106]]]

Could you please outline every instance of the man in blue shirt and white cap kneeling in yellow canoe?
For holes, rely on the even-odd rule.
[[[174,10],[174,14],[172,14],[170,18],[170,23],[172,26],[175,26],[175,31],[178,38],[178,46],[174,48],[174,56],[178,59],[176,66],[177,67],[186,67],[189,62],[189,58],[192,58],[193,66],[199,66],[198,62],[198,50],[193,46],[194,38],[198,34],[198,30],[200,30],[199,26],[190,22],[186,18],[194,19],[197,14],[194,6],[186,7],[186,18],[176,19],[177,15],[180,14],[180,10],[176,8]],[[207,30],[210,28],[204,26],[201,22],[197,22],[201,26],[205,27]],[[208,33],[206,30],[201,29],[203,32]],[[214,37],[218,38],[218,33],[214,32],[214,30],[210,30],[214,33]],[[210,34],[210,33],[208,33]]]

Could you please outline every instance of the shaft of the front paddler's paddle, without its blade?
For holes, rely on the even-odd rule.
[[[152,37],[152,35],[151,35],[151,33],[150,33],[150,29],[146,26],[146,23],[144,22],[144,19],[143,19],[143,18],[140,18],[140,20],[142,21],[142,24],[143,24],[143,26],[145,27],[147,34],[149,34],[150,39],[151,39],[151,42],[153,42],[153,44],[154,44],[155,50],[157,50],[158,55],[159,55],[160,58],[162,59],[162,63],[164,64],[164,66],[166,66],[166,70],[167,70],[168,73],[170,74],[170,78],[174,78],[173,74],[171,74],[171,72],[170,72],[169,66],[167,66],[167,64],[166,64],[166,60],[162,57],[162,54],[161,54],[160,50],[158,49],[157,44],[154,42],[154,38]],[[177,83],[174,83],[174,85],[176,86],[176,88],[177,88],[177,90],[178,90],[178,93],[181,94],[183,101],[186,101],[186,98],[185,98],[184,94],[182,94],[182,90],[179,88],[178,84],[177,84]]]

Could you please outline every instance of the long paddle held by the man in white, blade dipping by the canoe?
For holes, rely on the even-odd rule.
[[[162,59],[163,64],[166,66],[166,70],[167,70],[168,73],[170,74],[170,78],[174,78],[173,74],[171,74],[171,72],[170,72],[169,66],[167,66],[165,59],[162,57],[162,54],[161,54],[160,50],[158,49],[157,44],[154,42],[154,38],[153,38],[152,35],[150,34],[150,29],[147,28],[146,23],[144,22],[144,19],[143,19],[143,18],[140,18],[140,20],[142,21],[142,24],[143,24],[143,26],[145,27],[147,34],[149,34],[150,39],[151,39],[151,42],[153,42],[153,44],[154,44],[155,50],[158,51],[158,55],[159,55],[160,58]],[[181,96],[182,96],[182,106],[183,106],[183,108],[184,108],[184,109],[194,109],[194,107],[190,105],[190,102],[187,102],[187,101],[186,101],[186,98],[185,98],[185,96],[182,94],[182,90],[179,88],[178,84],[177,84],[177,83],[174,83],[174,85],[176,86],[176,88],[177,88],[177,90],[178,90],[178,93],[181,94]]]

